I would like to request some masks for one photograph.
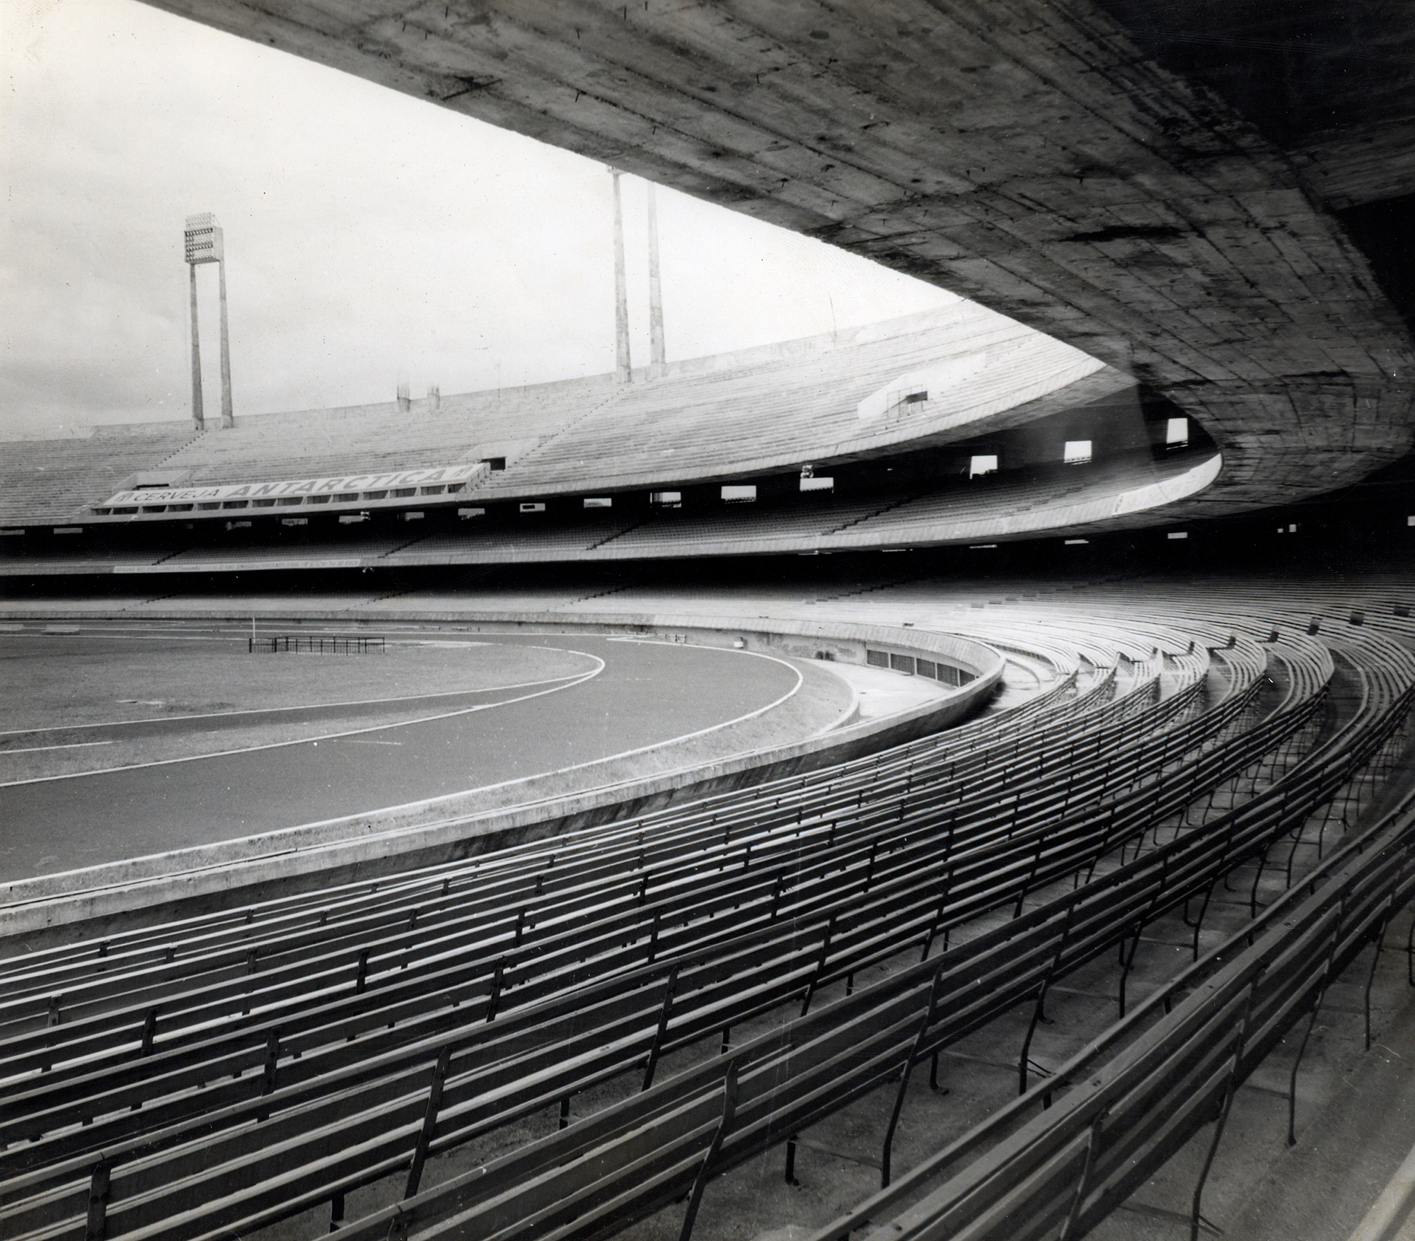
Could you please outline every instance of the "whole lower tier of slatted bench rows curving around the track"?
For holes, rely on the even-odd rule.
[[[798,1158],[883,1090],[884,1189],[819,1241],[896,1210],[903,1235],[1054,1235],[1210,1119],[1415,886],[1415,807],[1358,818],[1415,698],[1407,574],[499,602],[887,615],[993,642],[1027,688],[812,775],[0,964],[10,1234],[175,1241],[311,1207],[369,1241],[676,1228],[706,1179]],[[1142,931],[1180,913],[1189,950],[1140,994]],[[1039,1069],[1047,995],[1116,947],[1119,1022]],[[1022,1095],[891,1180],[910,1069],[937,1078],[1019,1006]],[[345,1218],[364,1186],[382,1203]]]

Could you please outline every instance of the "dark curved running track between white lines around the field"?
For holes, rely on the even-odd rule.
[[[580,635],[477,640],[576,650],[604,667],[577,683],[409,704],[409,715],[484,708],[441,719],[0,787],[0,878],[144,857],[553,772],[736,719],[797,684],[785,664],[710,647]],[[525,697],[548,688],[553,693]],[[328,731],[358,727],[344,718]]]

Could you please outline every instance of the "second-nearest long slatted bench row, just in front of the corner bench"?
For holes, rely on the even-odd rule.
[[[1354,735],[1364,735],[1368,724],[1356,722]],[[1244,741],[1249,755],[1261,752],[1254,734]],[[1323,765],[1322,758],[1315,762]],[[937,958],[928,955],[932,929],[923,920],[906,926],[901,930],[917,939],[896,934],[889,950],[923,944],[918,965],[606,1108],[584,1128],[391,1206],[355,1224],[354,1233],[371,1237],[396,1221],[399,1231],[429,1237],[468,1230],[488,1237],[594,1235],[606,1210],[616,1224],[658,1210],[689,1192],[705,1170],[730,1169],[788,1141],[897,1076],[903,1064],[937,1054],[1053,978],[1138,936],[1165,909],[1211,890],[1248,852],[1292,830],[1290,818],[1271,816],[1278,799],[1286,810],[1292,792],[1290,782],[1279,779],[1203,831],[1182,834],[1098,878],[1091,874],[1078,886],[1064,882],[1060,895],[1034,909],[1023,910],[1019,900],[1010,920]],[[1153,823],[1170,808],[1155,799],[1142,821]],[[1036,858],[1050,848],[1049,838]],[[1049,878],[1064,879],[1068,871],[1061,866]]]

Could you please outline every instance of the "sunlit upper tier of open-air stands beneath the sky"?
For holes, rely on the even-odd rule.
[[[862,400],[930,365],[958,362],[928,399],[862,420]],[[180,485],[338,478],[504,458],[468,488],[495,499],[582,493],[795,469],[879,454],[1019,407],[1044,414],[1129,380],[1092,358],[966,302],[838,336],[675,363],[661,379],[591,376],[426,400],[241,416],[192,433],[153,425],[92,440],[6,445],[7,523],[72,519],[139,471]],[[911,384],[913,386],[913,384]],[[1034,404],[1032,404],[1034,403]],[[156,479],[153,481],[157,482]]]

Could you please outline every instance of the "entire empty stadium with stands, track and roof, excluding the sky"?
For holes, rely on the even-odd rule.
[[[971,301],[6,441],[0,1234],[1407,1235],[1407,14],[157,7]]]

